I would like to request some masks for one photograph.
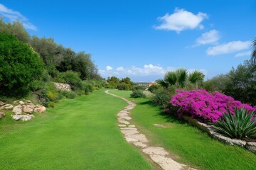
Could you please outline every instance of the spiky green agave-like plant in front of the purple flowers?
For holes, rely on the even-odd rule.
[[[223,114],[223,118],[213,125],[217,132],[237,139],[256,139],[255,112],[249,113],[244,108],[235,108],[235,113]]]

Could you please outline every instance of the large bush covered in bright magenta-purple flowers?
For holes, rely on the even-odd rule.
[[[234,114],[235,108],[245,108],[247,111],[256,111],[250,105],[235,101],[230,96],[220,94],[218,91],[208,93],[199,89],[193,91],[176,90],[176,96],[171,97],[171,105],[178,110],[178,115],[186,114],[191,118],[205,123],[216,123],[218,118],[223,118],[223,113]]]

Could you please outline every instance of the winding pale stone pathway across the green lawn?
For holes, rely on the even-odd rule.
[[[108,91],[105,91],[106,94],[110,94]],[[117,98],[122,98],[114,94],[110,94]],[[159,164],[164,170],[196,170],[185,164],[179,164],[175,162],[174,159],[171,159],[169,156],[169,152],[167,152],[163,147],[155,147],[150,146],[149,141],[146,136],[140,133],[135,125],[130,125],[129,120],[132,118],[129,116],[129,111],[131,111],[136,104],[132,101],[127,100],[126,98],[122,98],[129,105],[124,108],[124,110],[120,111],[117,116],[117,120],[119,121],[119,128],[121,132],[124,134],[125,140],[127,142],[132,143],[137,147],[142,148],[142,152],[148,155],[156,164]]]

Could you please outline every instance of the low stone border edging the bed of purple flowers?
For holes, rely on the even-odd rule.
[[[215,140],[218,140],[228,145],[237,145],[239,147],[243,147],[249,150],[250,152],[253,152],[256,154],[256,142],[246,142],[245,140],[231,139],[230,137],[225,137],[224,135],[221,135],[220,133],[216,132],[211,125],[207,125],[206,123],[201,123],[198,120],[195,120],[187,115],[182,115],[181,117],[187,123],[193,126],[196,126],[196,128],[203,130],[203,132],[207,132],[208,135],[210,135],[210,137],[212,137]]]

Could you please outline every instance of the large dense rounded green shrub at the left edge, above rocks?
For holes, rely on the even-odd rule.
[[[43,61],[29,45],[14,35],[0,33],[0,89],[14,94],[41,77]]]

